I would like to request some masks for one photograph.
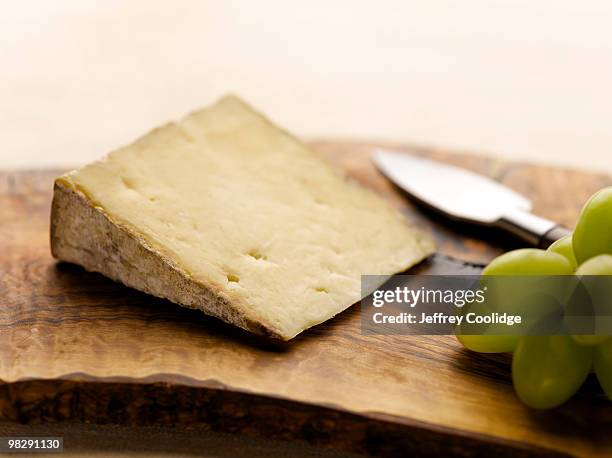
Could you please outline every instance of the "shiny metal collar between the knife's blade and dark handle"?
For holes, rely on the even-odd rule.
[[[553,221],[522,210],[508,210],[496,226],[511,232],[531,246],[548,248],[571,231]]]

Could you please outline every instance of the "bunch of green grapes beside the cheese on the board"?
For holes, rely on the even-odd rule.
[[[494,259],[483,272],[485,276],[573,274],[612,276],[612,187],[591,197],[572,235],[558,240],[546,251],[521,249],[506,253]],[[612,298],[607,300],[612,302]],[[458,333],[457,338],[473,351],[513,352],[514,388],[530,407],[548,409],[564,403],[591,371],[612,399],[610,336]]]

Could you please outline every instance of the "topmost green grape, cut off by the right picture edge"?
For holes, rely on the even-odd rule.
[[[578,264],[599,254],[612,254],[612,186],[595,193],[586,203],[572,242]]]

